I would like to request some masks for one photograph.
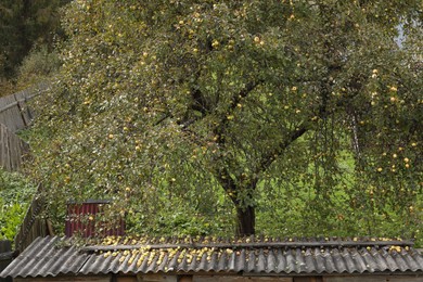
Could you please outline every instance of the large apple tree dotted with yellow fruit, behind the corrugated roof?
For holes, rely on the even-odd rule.
[[[114,198],[144,232],[238,222],[251,234],[257,218],[258,232],[379,233],[369,227],[384,221],[413,235],[419,11],[414,0],[73,1],[33,174],[55,204]]]

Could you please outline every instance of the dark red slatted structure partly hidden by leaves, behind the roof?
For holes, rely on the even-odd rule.
[[[65,235],[78,234],[84,238],[125,235],[125,220],[104,219],[105,208],[110,201],[90,200],[85,203],[68,203],[65,223]]]

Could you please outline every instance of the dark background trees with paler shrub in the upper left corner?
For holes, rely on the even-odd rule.
[[[69,0],[3,0],[0,3],[0,95],[12,94],[57,68],[54,44],[64,36],[60,8]]]

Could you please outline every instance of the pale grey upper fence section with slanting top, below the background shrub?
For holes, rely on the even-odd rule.
[[[28,101],[48,91],[47,84],[26,89],[24,91],[0,98],[0,124],[12,132],[26,128],[34,118],[34,112]]]

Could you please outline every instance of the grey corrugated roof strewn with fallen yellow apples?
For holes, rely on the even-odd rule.
[[[99,244],[100,243],[100,244]],[[60,274],[232,272],[281,275],[413,272],[423,256],[406,242],[254,240],[134,240],[69,246],[61,238],[39,238],[0,277]],[[94,245],[92,245],[94,244]]]

